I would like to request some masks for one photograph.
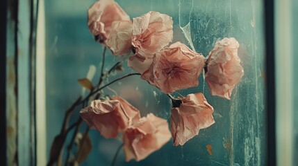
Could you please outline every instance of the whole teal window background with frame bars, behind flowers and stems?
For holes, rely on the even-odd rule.
[[[171,140],[140,162],[125,162],[120,151],[116,165],[298,165],[298,1],[115,1],[131,18],[151,10],[171,16],[174,42],[205,57],[217,40],[235,37],[245,70],[231,100],[210,95],[203,75],[199,86],[173,93],[204,93],[214,107],[215,124],[199,136],[181,147],[172,146]],[[1,26],[0,165],[47,165],[65,111],[82,94],[77,80],[95,66],[92,82],[99,81],[104,46],[94,42],[87,26],[87,10],[94,2],[1,2],[1,21],[6,24]],[[105,83],[135,73],[126,58],[107,51],[104,69],[124,60],[124,71]],[[170,119],[167,96],[139,76],[127,77],[104,93],[122,96],[142,116],[152,112]],[[76,122],[78,111],[70,123]],[[80,165],[110,165],[121,138],[107,140],[96,130],[89,134],[92,151]],[[71,155],[75,152],[72,149]]]

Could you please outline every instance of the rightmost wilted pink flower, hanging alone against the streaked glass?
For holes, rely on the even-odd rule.
[[[235,84],[244,74],[238,57],[239,44],[233,37],[216,42],[206,60],[206,82],[212,95],[231,99]]]

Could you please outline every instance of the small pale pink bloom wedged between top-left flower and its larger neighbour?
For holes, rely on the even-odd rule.
[[[131,21],[115,21],[106,46],[114,55],[124,55],[131,50]]]

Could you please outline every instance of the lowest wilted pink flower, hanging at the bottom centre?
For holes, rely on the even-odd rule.
[[[123,134],[126,161],[142,160],[157,151],[171,138],[167,120],[149,113]]]

